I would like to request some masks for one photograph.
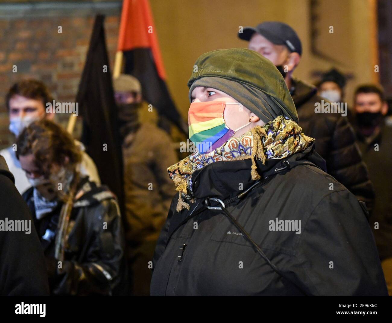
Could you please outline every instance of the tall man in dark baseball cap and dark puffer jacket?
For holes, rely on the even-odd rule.
[[[238,37],[248,41],[249,49],[268,58],[278,68],[296,106],[299,125],[304,133],[316,138],[316,151],[327,162],[327,172],[371,210],[374,189],[350,123],[338,113],[316,113],[315,107],[323,105],[316,87],[292,78],[302,55],[301,40],[294,29],[282,22],[268,21],[255,28],[243,28]]]

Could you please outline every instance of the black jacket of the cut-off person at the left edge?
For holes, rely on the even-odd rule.
[[[2,156],[0,211],[0,221],[4,223],[30,221],[29,231],[0,231],[0,296],[48,296],[45,258],[33,219]]]

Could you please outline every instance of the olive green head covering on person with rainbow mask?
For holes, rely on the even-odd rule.
[[[283,76],[267,58],[246,48],[218,49],[201,55],[188,81],[189,100],[195,87],[229,94],[264,122],[298,114]]]

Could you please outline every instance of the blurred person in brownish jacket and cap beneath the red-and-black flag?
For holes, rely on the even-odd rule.
[[[175,192],[164,171],[177,156],[165,131],[154,123],[140,122],[140,82],[122,74],[113,87],[122,137],[131,295],[148,296],[154,248]]]

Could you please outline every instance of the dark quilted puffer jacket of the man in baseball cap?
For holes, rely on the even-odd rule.
[[[371,212],[374,208],[374,188],[348,117],[338,113],[315,113],[315,103],[324,100],[316,94],[317,89],[296,79],[292,80],[292,85],[298,124],[307,136],[316,139],[316,151],[327,162],[327,173],[358,200],[364,201]]]

